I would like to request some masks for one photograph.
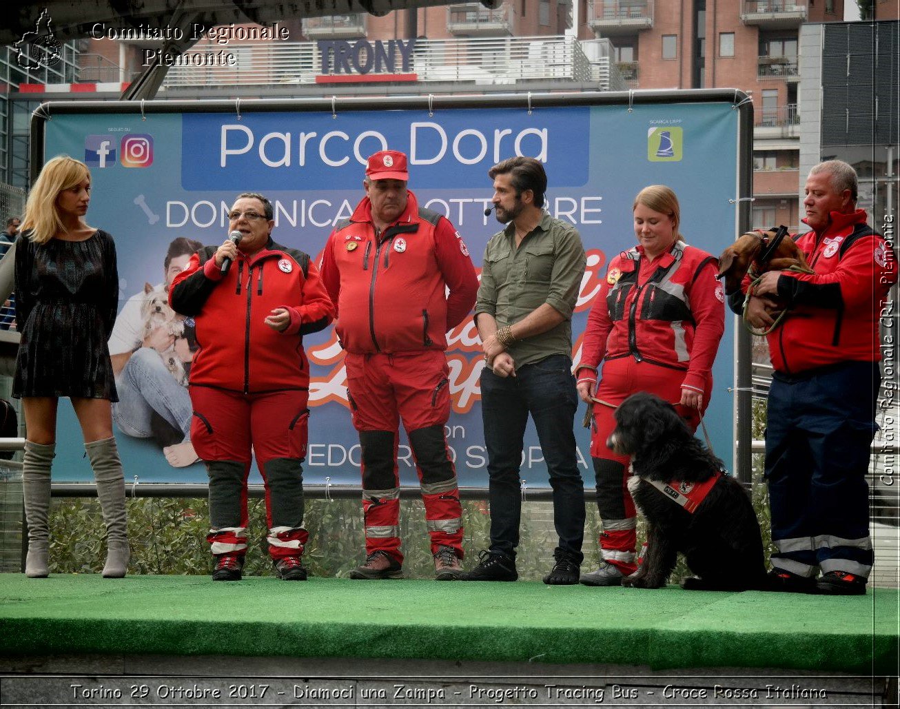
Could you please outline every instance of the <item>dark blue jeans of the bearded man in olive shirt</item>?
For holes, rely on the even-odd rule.
[[[584,483],[575,454],[578,393],[572,360],[554,354],[525,364],[515,377],[482,371],[484,444],[488,449],[491,551],[515,558],[522,516],[519,467],[525,426],[531,414],[554,490],[554,525],[561,552],[581,563]]]

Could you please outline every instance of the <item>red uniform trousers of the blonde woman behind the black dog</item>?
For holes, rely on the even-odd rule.
[[[684,417],[691,431],[700,424],[700,415],[695,408],[684,408],[681,400],[683,370],[662,367],[658,364],[635,362],[631,356],[618,357],[603,363],[603,378],[600,380],[598,399],[612,404],[594,404],[594,431],[590,436],[590,456],[597,478],[597,507],[603,531],[600,534],[600,553],[607,561],[626,576],[637,569],[635,546],[637,543],[635,501],[628,491],[627,455],[613,453],[607,447],[609,434],[616,427],[613,417],[615,408],[637,391],[649,391],[675,405]],[[707,377],[703,391],[703,410],[709,404],[712,390],[712,376]]]

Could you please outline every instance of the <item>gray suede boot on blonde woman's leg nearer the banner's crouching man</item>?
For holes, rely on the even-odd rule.
[[[128,570],[128,517],[125,514],[125,478],[121,470],[115,438],[85,444],[94,469],[97,497],[106,523],[106,564],[104,579],[121,579]]]

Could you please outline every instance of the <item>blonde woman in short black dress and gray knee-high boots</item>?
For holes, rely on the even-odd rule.
[[[25,574],[48,575],[50,464],[56,453],[60,397],[72,401],[94,469],[106,523],[103,576],[128,568],[125,481],[112,437],[117,401],[106,341],[119,303],[112,237],[85,223],[91,174],[58,156],[31,188],[15,245],[15,310],[22,343],[13,396],[22,399],[27,439],[23,460],[28,556]]]

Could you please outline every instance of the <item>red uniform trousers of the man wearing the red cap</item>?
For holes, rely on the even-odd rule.
[[[450,381],[440,350],[396,354],[347,353],[347,392],[362,447],[365,552],[400,551],[400,421],[419,473],[431,552],[453,547],[463,558],[463,508],[444,425],[450,417]]]

